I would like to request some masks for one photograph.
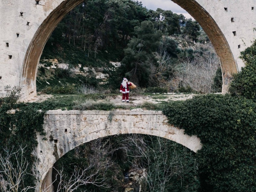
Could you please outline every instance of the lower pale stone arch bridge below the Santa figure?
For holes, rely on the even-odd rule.
[[[110,135],[147,134],[167,138],[196,152],[202,145],[197,136],[184,134],[183,129],[167,123],[161,111],[60,111],[45,113],[46,135],[37,135],[36,156],[42,165],[38,170],[42,187],[52,184],[52,166],[73,148]]]

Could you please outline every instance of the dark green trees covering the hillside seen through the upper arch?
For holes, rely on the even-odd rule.
[[[186,53],[177,49],[178,42],[169,36],[186,36],[197,41],[199,30],[196,21],[182,14],[159,8],[148,10],[138,1],[89,0],[70,11],[58,24],[41,60],[57,58],[62,63],[81,64],[81,70],[83,67],[111,68],[109,61],[122,61],[120,70],[106,71],[110,75],[106,87],[113,88],[124,76],[142,87],[160,86],[158,73],[162,71],[159,72],[156,52],[167,52],[172,62],[178,63]],[[173,78],[173,69],[173,66],[166,68],[161,83]],[[62,77],[63,73],[57,73],[51,79],[62,82]],[[45,86],[48,85],[40,85]]]

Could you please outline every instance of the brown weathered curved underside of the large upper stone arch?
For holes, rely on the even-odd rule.
[[[220,57],[223,76],[222,92],[225,93],[232,74],[237,73],[238,68],[224,34],[213,17],[198,3],[201,2],[201,4],[205,4],[203,0],[172,1],[188,11],[189,14],[200,23],[209,36],[209,39]],[[22,91],[23,98],[36,96],[37,66],[49,36],[62,18],[74,7],[83,2],[83,0],[60,0],[60,2],[61,3],[50,12],[48,17],[39,26],[25,54],[20,78],[20,86],[25,85]]]

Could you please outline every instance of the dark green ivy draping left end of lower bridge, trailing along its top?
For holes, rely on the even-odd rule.
[[[26,153],[23,158],[29,163],[27,171],[31,173],[33,168],[34,157],[32,151],[37,146],[36,132],[44,135],[43,116],[46,110],[55,109],[57,106],[63,106],[59,102],[43,102],[17,104],[20,88],[14,87],[5,98],[0,101],[0,155],[5,156],[8,150],[17,151],[20,147],[26,147]],[[39,110],[42,111],[39,111]],[[15,110],[15,113],[10,113]],[[18,156],[18,158],[21,158]],[[16,159],[11,159],[15,164]],[[16,163],[15,163],[16,162]],[[0,170],[1,171],[1,170]],[[28,174],[20,185],[22,188],[34,186],[34,178]],[[21,190],[21,189],[20,189]],[[31,189],[30,191],[34,191]]]

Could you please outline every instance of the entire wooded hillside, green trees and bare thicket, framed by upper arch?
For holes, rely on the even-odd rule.
[[[81,73],[67,73],[57,63],[48,70],[49,59]],[[89,0],[77,6],[55,28],[40,63],[37,88],[48,93],[68,85],[113,92],[123,77],[169,92],[220,92],[222,86],[220,61],[196,21],[130,0]],[[107,75],[97,77],[98,68]]]

